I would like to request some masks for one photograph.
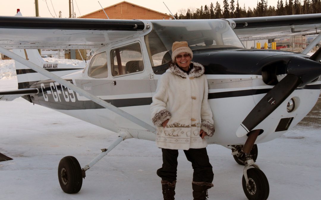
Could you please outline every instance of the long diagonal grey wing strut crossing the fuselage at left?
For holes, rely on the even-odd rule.
[[[144,122],[144,121],[138,119],[137,117],[123,111],[122,109],[117,108],[117,107],[107,103],[106,101],[98,98],[95,95],[92,95],[91,93],[89,93],[89,92],[87,92],[77,86],[75,86],[74,84],[69,83],[68,81],[64,80],[63,78],[56,76],[55,74],[47,71],[46,69],[39,67],[38,65],[22,58],[21,56],[18,56],[17,54],[8,51],[7,49],[3,48],[2,46],[0,46],[0,52],[6,56],[12,58],[13,60],[16,60],[16,61],[20,62],[21,64],[35,70],[36,72],[39,72],[40,74],[42,74],[44,76],[47,76],[48,78],[56,81],[57,83],[68,87],[69,89],[71,89],[71,90],[79,93],[80,95],[92,100],[93,102],[99,104],[100,106],[103,106],[104,108],[107,108],[110,111],[112,111],[120,116],[125,117],[126,119],[130,120],[131,122],[134,122],[135,124],[140,125],[141,127],[147,129],[148,131],[150,131],[150,132],[156,131],[156,129],[153,126],[151,126],[150,124],[147,124],[146,122]]]

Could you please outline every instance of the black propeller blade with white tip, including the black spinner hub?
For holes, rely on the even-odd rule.
[[[321,63],[302,57],[292,58],[287,75],[277,83],[251,110],[236,131],[243,137],[269,116],[297,88],[309,84],[321,75]]]

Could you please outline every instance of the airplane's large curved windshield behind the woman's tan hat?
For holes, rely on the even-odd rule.
[[[152,25],[152,32],[145,36],[152,67],[171,60],[175,41],[187,41],[192,50],[244,48],[225,20],[154,20]]]

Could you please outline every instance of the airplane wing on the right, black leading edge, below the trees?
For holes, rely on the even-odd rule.
[[[235,18],[228,20],[235,22],[232,28],[235,27],[233,30],[241,41],[318,34],[321,28],[321,14]]]

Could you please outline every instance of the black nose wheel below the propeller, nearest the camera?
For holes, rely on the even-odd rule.
[[[269,196],[270,187],[265,174],[256,168],[247,170],[247,179],[249,188],[246,187],[246,181],[243,175],[242,186],[246,197],[249,200],[266,200]]]

